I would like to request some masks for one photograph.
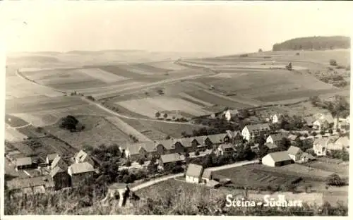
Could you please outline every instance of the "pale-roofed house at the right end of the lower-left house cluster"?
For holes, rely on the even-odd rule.
[[[91,176],[95,169],[93,168],[92,164],[88,162],[78,163],[78,164],[71,164],[68,166],[68,175],[71,176],[71,185],[76,187],[83,183],[86,178]]]

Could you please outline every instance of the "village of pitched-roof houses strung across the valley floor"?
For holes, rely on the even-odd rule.
[[[218,117],[229,121],[237,114],[238,111],[228,109]],[[235,164],[237,167],[237,162],[249,161],[244,165],[263,164],[276,169],[289,164],[308,164],[321,157],[331,157],[334,152],[349,155],[349,116],[333,118],[331,114],[316,114],[304,119],[306,129],[274,130],[273,126],[283,118],[282,114],[275,114],[266,118],[265,123],[246,125],[242,130],[227,130],[226,133],[116,146],[115,150],[119,151],[116,163],[119,172],[147,169],[159,178],[181,172],[184,176],[179,176],[179,181],[217,188],[231,182],[225,175],[213,175],[217,166],[228,164],[229,168]],[[7,181],[6,188],[13,195],[28,195],[79,187],[88,177],[100,176],[102,172],[102,161],[94,154],[90,149],[80,150],[70,158],[48,154],[45,161],[40,162],[35,157],[16,157],[16,152],[8,152],[6,159],[11,161],[15,172],[25,174],[24,178]],[[212,162],[213,158],[217,162]],[[126,178],[122,181],[112,185],[134,182]],[[143,179],[136,178],[137,183],[141,181]]]

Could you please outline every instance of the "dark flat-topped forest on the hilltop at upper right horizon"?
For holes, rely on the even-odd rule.
[[[289,39],[280,44],[273,45],[273,51],[285,50],[321,50],[321,49],[348,49],[350,38],[344,36],[333,37],[299,37]]]

